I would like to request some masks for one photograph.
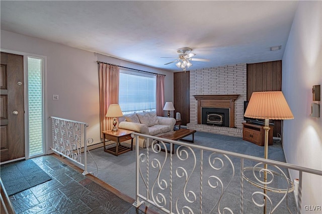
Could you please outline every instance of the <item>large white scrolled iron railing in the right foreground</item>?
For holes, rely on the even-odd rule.
[[[166,213],[300,213],[302,173],[322,175],[284,162],[132,134],[136,142],[139,136],[147,148],[136,147],[136,207],[145,203]],[[298,188],[288,178],[290,169],[299,173]]]

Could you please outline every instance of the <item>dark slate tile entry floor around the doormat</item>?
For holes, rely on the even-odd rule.
[[[103,186],[55,155],[32,160],[52,180],[10,196],[16,213],[151,213],[137,209],[132,205],[134,199],[115,193],[113,187],[110,191],[102,181]]]

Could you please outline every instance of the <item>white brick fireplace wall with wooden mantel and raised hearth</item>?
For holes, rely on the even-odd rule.
[[[242,137],[246,96],[247,64],[190,71],[190,123],[187,128]],[[229,127],[202,124],[202,107],[229,108]]]

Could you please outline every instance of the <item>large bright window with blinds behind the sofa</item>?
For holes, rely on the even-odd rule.
[[[155,90],[154,75],[120,71],[119,105],[123,114],[155,111]]]

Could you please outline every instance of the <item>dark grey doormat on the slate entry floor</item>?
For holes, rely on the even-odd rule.
[[[2,165],[0,171],[9,196],[52,179],[31,159]]]

